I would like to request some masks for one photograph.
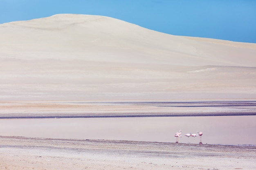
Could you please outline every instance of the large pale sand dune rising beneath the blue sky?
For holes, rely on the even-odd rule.
[[[0,100],[256,98],[256,44],[59,14],[0,24]]]

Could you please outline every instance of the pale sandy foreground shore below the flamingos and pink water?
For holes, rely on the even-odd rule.
[[[0,137],[6,170],[255,170],[256,147]]]

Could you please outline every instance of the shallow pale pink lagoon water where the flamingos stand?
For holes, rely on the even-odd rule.
[[[0,119],[0,135],[175,142],[181,129],[179,143],[256,145],[255,122],[256,116]],[[203,135],[185,136],[197,131]]]

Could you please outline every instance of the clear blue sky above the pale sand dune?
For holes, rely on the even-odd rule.
[[[0,24],[105,15],[173,35],[256,43],[256,0],[0,0]]]

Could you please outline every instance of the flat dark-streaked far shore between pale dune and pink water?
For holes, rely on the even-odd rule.
[[[0,102],[0,119],[256,115],[255,100]]]

